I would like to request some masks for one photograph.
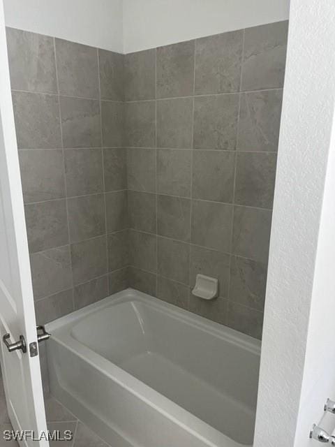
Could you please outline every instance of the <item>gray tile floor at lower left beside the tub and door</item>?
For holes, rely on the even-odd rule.
[[[59,430],[60,432],[71,430],[74,434],[72,441],[50,441],[50,447],[56,445],[61,447],[110,447],[52,396],[45,397],[45,414],[48,430]],[[3,431],[11,430],[11,428],[0,380],[0,447],[18,447],[17,441],[3,439]]]

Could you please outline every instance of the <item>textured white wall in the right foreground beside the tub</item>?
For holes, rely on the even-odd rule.
[[[311,446],[335,399],[334,73],[334,0],[292,0],[255,447]]]

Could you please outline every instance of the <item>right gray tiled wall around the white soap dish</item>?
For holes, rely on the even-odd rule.
[[[288,22],[126,54],[128,284],[261,337]],[[217,277],[219,298],[191,290]]]

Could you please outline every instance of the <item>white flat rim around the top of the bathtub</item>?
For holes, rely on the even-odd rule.
[[[174,316],[174,318],[178,318],[179,320],[187,321],[188,324],[224,339],[228,343],[239,344],[243,349],[260,356],[260,340],[253,339],[253,337],[244,335],[241,332],[237,332],[236,330],[219,323],[209,321],[207,318],[203,318],[202,316],[198,316],[185,309],[163,302],[158,298],[154,298],[151,295],[136,291],[132,288],[127,288],[124,291],[110,295],[103,300],[94,302],[87,307],[83,307],[71,314],[58,318],[57,320],[48,323],[46,328],[52,333],[52,344],[61,344],[65,349],[71,351],[73,355],[88,362],[91,367],[98,369],[101,374],[109,377],[119,386],[125,388],[129,393],[132,393],[146,404],[152,406],[163,416],[169,418],[172,422],[177,423],[183,427],[184,430],[193,434],[193,436],[198,439],[202,439],[202,441],[207,443],[207,446],[251,447],[252,444],[240,444],[239,442],[234,441],[234,439],[228,437],[228,435],[220,432],[209,425],[209,423],[198,418],[198,416],[195,416],[190,411],[179,406],[176,402],[173,402],[154,388],[151,388],[151,386],[126,372],[126,370],[122,369],[112,361],[107,360],[107,358],[104,358],[99,353],[96,353],[88,346],[82,344],[75,339],[71,333],[73,327],[71,323],[74,323],[75,321],[79,323],[90,314],[95,314],[105,307],[128,301],[140,301],[144,302],[144,304],[148,304],[148,300],[150,300],[150,305],[158,307],[160,310],[164,309],[165,311],[168,311],[168,313],[172,314],[172,317]],[[63,331],[61,331],[62,328],[64,328]],[[70,390],[65,390],[67,393],[70,393]]]

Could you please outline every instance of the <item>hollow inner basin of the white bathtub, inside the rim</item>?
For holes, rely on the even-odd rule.
[[[70,335],[221,433],[252,444],[258,350],[239,337],[228,342],[215,323],[194,324],[188,312],[168,309],[128,298],[82,318]]]

